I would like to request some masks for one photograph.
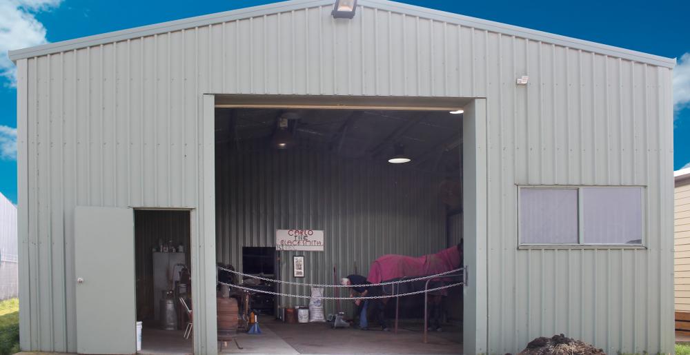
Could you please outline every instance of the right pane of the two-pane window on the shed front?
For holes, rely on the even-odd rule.
[[[588,244],[642,244],[642,187],[583,187]]]

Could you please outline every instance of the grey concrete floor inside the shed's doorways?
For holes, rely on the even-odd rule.
[[[457,327],[429,332],[422,342],[420,322],[401,322],[398,334],[380,330],[331,329],[326,323],[288,324],[273,317],[259,319],[262,334],[239,332],[235,341],[219,343],[221,354],[460,354],[462,334]],[[239,347],[242,349],[239,349]],[[145,355],[192,354],[192,339],[181,331],[144,328],[141,352]]]

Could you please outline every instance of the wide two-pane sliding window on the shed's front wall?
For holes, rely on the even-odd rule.
[[[518,187],[520,245],[642,245],[642,187]]]

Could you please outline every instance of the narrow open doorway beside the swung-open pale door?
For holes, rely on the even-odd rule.
[[[193,353],[190,230],[188,210],[135,210],[139,354]]]

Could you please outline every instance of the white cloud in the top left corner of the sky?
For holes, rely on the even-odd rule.
[[[62,0],[0,0],[0,76],[16,83],[14,63],[8,50],[17,50],[47,43],[46,28],[34,16],[51,10]]]

